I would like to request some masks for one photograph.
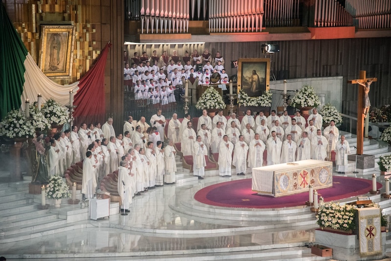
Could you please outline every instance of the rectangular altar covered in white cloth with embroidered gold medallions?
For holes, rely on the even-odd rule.
[[[282,197],[333,186],[332,162],[304,160],[253,168],[252,190]]]

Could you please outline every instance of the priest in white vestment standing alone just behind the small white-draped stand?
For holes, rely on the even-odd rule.
[[[83,161],[83,181],[82,193],[85,198],[94,198],[96,191],[95,161],[92,158],[92,152],[86,152],[86,158]]]

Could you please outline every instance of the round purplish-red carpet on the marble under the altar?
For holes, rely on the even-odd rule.
[[[382,185],[377,183],[377,189],[381,188]],[[334,176],[333,187],[318,192],[327,202],[366,194],[371,189],[371,180]],[[251,179],[243,179],[206,187],[197,191],[194,198],[219,207],[269,209],[303,206],[308,200],[308,191],[279,198],[261,196],[251,190]]]

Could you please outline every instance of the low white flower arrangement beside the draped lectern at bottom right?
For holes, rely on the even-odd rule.
[[[356,206],[341,206],[339,203],[327,203],[320,206],[316,215],[319,226],[341,230],[354,230],[356,228],[355,217]]]

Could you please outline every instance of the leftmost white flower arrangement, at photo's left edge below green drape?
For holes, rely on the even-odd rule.
[[[35,128],[24,113],[19,110],[10,111],[0,122],[0,136],[9,139],[28,139],[35,135]]]

